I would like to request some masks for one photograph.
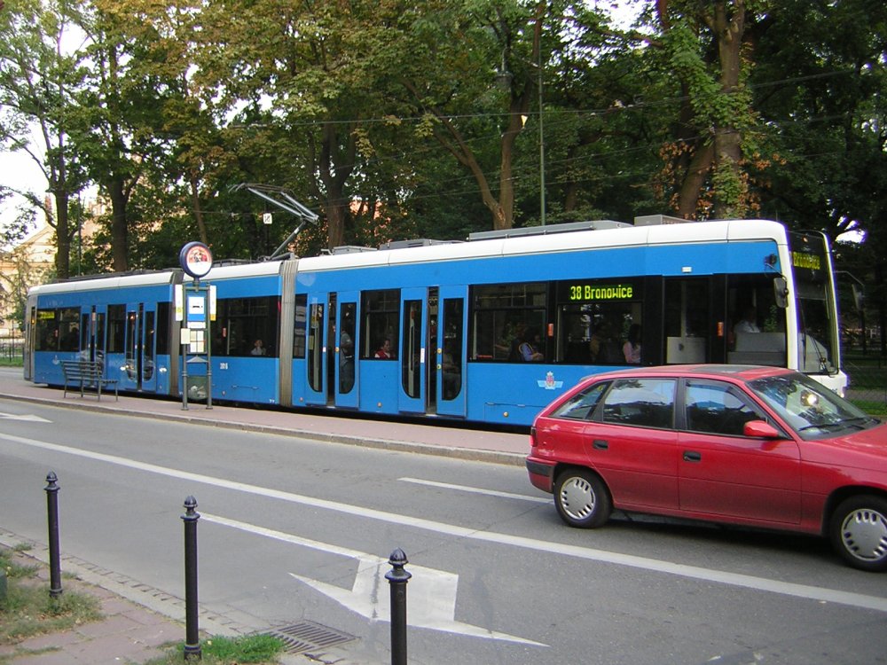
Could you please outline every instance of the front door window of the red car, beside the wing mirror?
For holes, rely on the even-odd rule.
[[[691,432],[742,436],[747,422],[766,420],[736,387],[719,381],[688,380],[684,408]]]

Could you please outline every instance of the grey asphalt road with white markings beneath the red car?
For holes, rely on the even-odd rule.
[[[316,622],[390,661],[402,548],[411,663],[887,662],[887,575],[816,538],[619,517],[565,527],[517,466],[0,402],[0,528],[184,596],[185,497],[200,603],[244,629]]]

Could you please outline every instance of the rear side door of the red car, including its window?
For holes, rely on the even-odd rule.
[[[585,428],[589,461],[607,482],[617,507],[678,508],[676,379],[614,381]]]

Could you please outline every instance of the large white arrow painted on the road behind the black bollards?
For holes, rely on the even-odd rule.
[[[265,536],[309,547],[320,552],[339,554],[349,559],[357,559],[357,575],[354,578],[354,586],[342,589],[340,586],[320,582],[303,575],[290,573],[295,579],[309,585],[312,589],[323,593],[328,598],[334,599],[341,606],[347,607],[352,612],[365,616],[371,621],[390,621],[391,594],[388,592],[388,580],[385,574],[391,569],[388,559],[382,559],[374,554],[349,550],[338,545],[321,543],[300,536],[287,534],[283,531],[275,531],[271,528],[256,526],[238,520],[219,517],[218,515],[200,514],[201,520],[207,520],[225,527],[237,528],[241,531]],[[459,575],[445,570],[414,566],[410,564],[407,570],[412,575],[409,582],[409,612],[407,622],[417,628],[430,630],[443,630],[460,635],[469,635],[475,638],[498,639],[506,642],[518,642],[525,645],[547,646],[530,639],[517,638],[514,635],[487,630],[470,623],[456,621],[456,594],[459,591]]]

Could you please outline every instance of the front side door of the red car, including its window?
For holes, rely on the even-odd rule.
[[[766,416],[737,386],[687,379],[683,389],[681,511],[797,524],[801,518],[797,443],[788,437],[761,439],[742,434],[746,422]]]

